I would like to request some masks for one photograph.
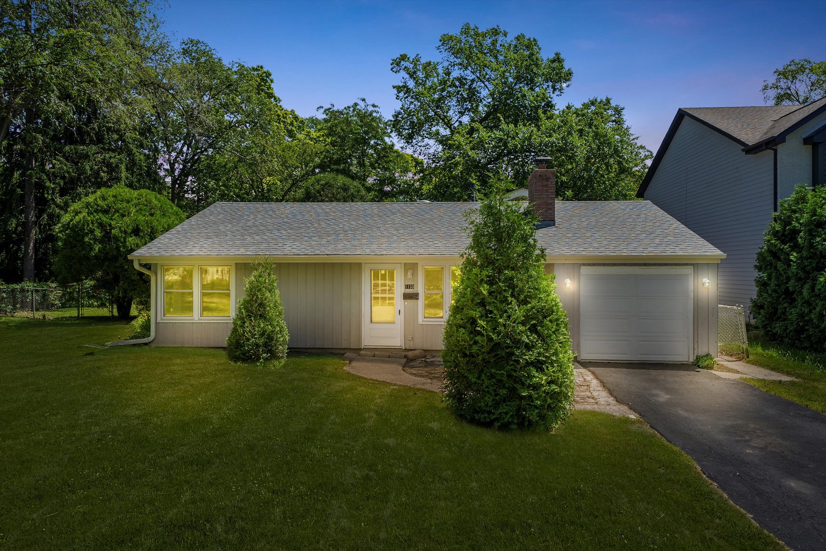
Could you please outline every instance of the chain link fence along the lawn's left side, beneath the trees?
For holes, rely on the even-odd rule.
[[[114,318],[117,310],[110,294],[96,290],[89,283],[66,287],[4,285],[0,287],[0,316],[33,319]]]

